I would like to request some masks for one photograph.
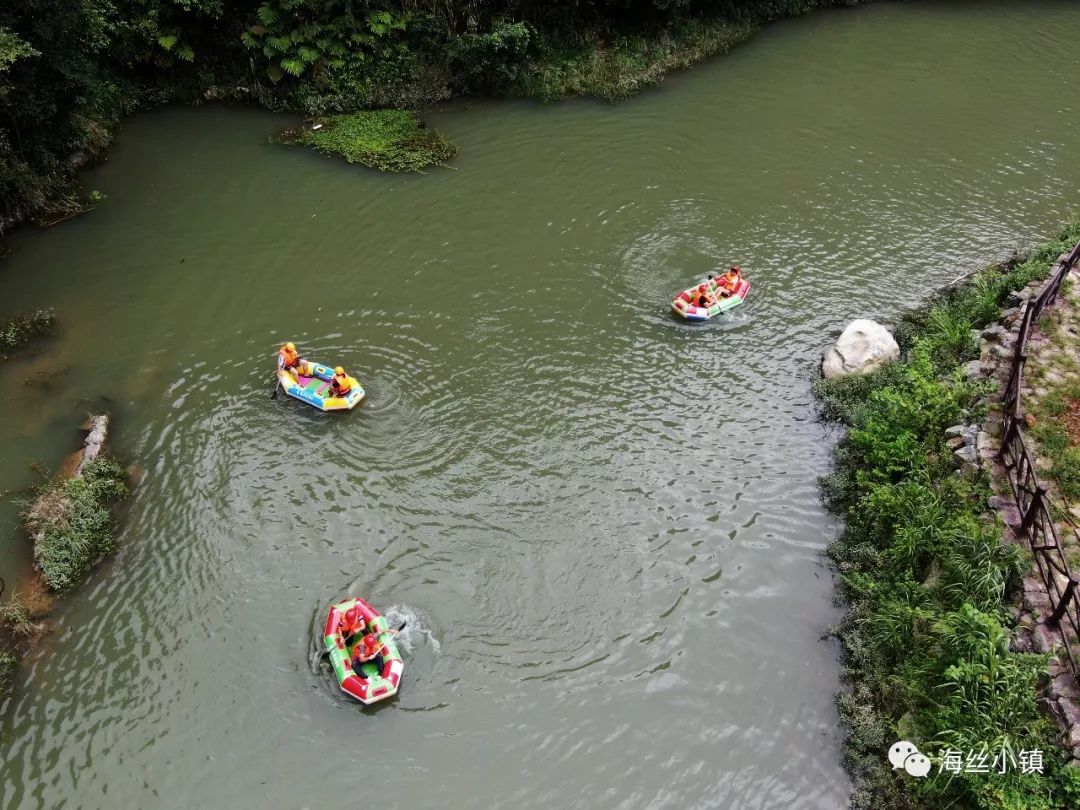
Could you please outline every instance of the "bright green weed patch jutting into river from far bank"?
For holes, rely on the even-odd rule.
[[[305,127],[294,140],[382,172],[422,172],[458,151],[442,133],[426,129],[407,110],[367,110],[316,123],[322,127]]]

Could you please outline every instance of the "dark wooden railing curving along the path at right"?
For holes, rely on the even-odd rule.
[[[1020,525],[1014,530],[1031,550],[1036,570],[1047,589],[1050,616],[1044,619],[1044,623],[1061,631],[1065,656],[1072,674],[1080,678],[1080,669],[1077,666],[1080,650],[1076,649],[1080,645],[1080,576],[1069,568],[1069,562],[1059,542],[1057,522],[1054,521],[1047,489],[1035,474],[1035,461],[1024,441],[1021,401],[1024,366],[1027,363],[1027,341],[1031,327],[1043,309],[1057,298],[1066,276],[1078,262],[1080,262],[1080,242],[1069,253],[1058,258],[1053,274],[1042,285],[1038,295],[1027,300],[1020,333],[1016,336],[1012,368],[1002,394],[1003,436],[998,459],[1008,472],[1009,486],[1020,511]],[[1063,518],[1061,523],[1068,525],[1069,530],[1076,534],[1080,541],[1080,531],[1071,521]]]

